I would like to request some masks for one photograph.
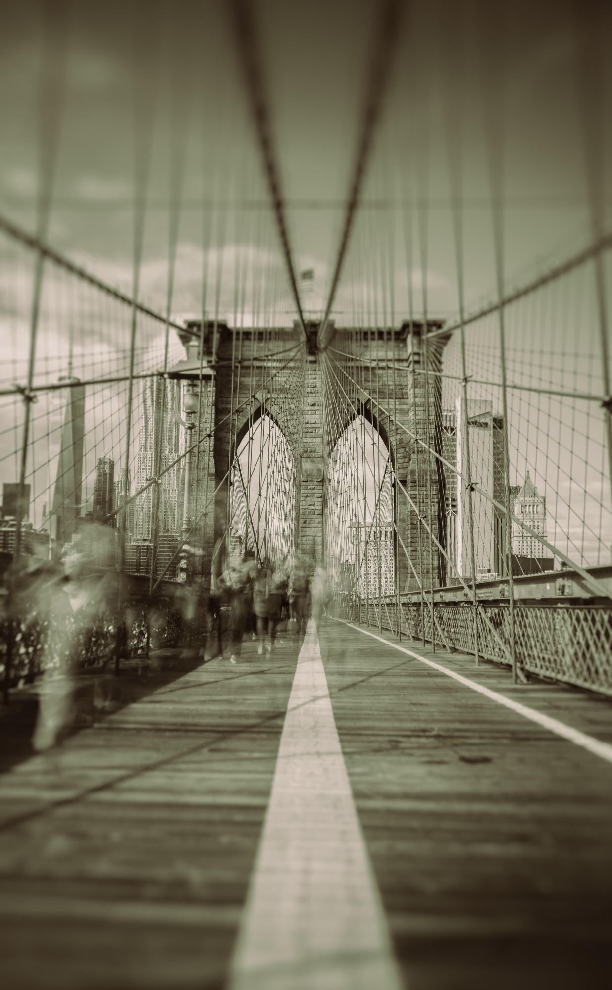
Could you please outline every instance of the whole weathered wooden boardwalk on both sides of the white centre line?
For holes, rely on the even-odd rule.
[[[612,985],[612,764],[363,632],[327,622],[319,643],[406,986]],[[16,697],[21,734],[4,713],[0,764],[3,988],[225,985],[300,646],[267,658],[245,644],[236,666],[167,651],[158,670],[95,690],[83,677],[81,727],[45,755],[28,752]],[[605,699],[435,659],[612,743]],[[308,854],[316,869],[312,843]],[[345,986],[340,970],[285,985]]]

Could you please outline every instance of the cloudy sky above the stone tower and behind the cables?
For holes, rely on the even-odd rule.
[[[46,28],[43,4],[3,3],[0,211],[36,230],[37,190],[52,176],[51,245],[129,292],[135,207],[143,202],[141,293],[156,308],[164,311],[167,302],[175,220],[174,314],[199,314],[204,305],[211,315],[218,305],[230,323],[290,325],[295,312],[228,6],[217,0],[107,0],[66,6],[62,21],[62,5],[55,4]],[[404,6],[333,313],[345,325],[357,318],[399,325],[409,314],[409,285],[415,316],[425,303],[431,316],[457,313],[454,188],[462,207],[468,309],[496,292],[496,190],[505,285],[533,278],[592,238],[585,162],[604,177],[598,219],[604,226],[610,220],[611,71],[605,57],[601,77],[592,71],[599,65],[596,46],[586,52],[588,71],[578,71],[586,22],[576,17],[576,5],[420,0]],[[253,9],[291,249],[298,275],[314,270],[306,305],[316,314],[325,306],[338,250],[382,5],[255,0]],[[605,5],[601,9],[591,40],[606,55],[611,16]],[[589,135],[596,141],[589,144]],[[589,148],[595,148],[590,158]],[[0,252],[3,374],[21,377],[32,266],[28,252],[4,236]],[[66,364],[70,338],[76,351],[89,347],[96,359],[104,353],[110,361],[111,351],[125,349],[126,322],[96,316],[88,297],[76,303],[52,268],[45,292],[40,347],[51,376]],[[572,310],[559,300],[544,316],[525,311],[521,320],[509,321],[519,382],[537,365],[544,368],[539,384],[557,387],[575,365],[579,377],[572,387],[601,393],[592,286],[585,281],[575,292],[586,304],[576,303],[580,318],[573,324]],[[74,313],[78,319],[71,321],[67,314]],[[559,313],[562,374],[556,363]],[[143,330],[143,361],[148,346],[158,354],[158,331],[153,325]],[[498,380],[487,337],[493,332],[474,332],[468,344],[473,361],[489,347],[487,375]],[[571,354],[578,351],[576,363]],[[536,453],[530,460],[524,442],[533,410],[522,408],[514,444],[518,480],[530,462],[533,471],[543,447],[538,438],[544,440],[548,429],[541,425],[532,434]],[[578,417],[594,447],[577,435],[570,443],[565,428],[575,434],[572,422],[558,441],[564,470],[569,479],[575,474],[577,451],[580,483],[595,493],[596,512],[607,484],[600,419],[583,411]],[[596,460],[592,476],[589,459]],[[544,490],[544,481],[538,483]]]

